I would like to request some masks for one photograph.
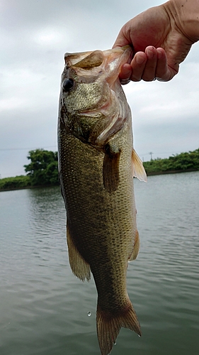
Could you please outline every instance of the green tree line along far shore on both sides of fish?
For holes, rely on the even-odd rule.
[[[0,191],[34,186],[59,185],[57,152],[35,149],[29,151],[30,163],[24,165],[26,175],[0,180]],[[199,148],[188,153],[157,158],[143,163],[147,175],[199,170]]]

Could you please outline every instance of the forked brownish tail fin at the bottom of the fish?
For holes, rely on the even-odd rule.
[[[131,329],[140,335],[140,337],[142,335],[140,323],[137,320],[137,315],[130,300],[128,300],[127,307],[120,310],[117,314],[101,310],[101,307],[98,305],[96,326],[101,355],[110,354],[113,344],[116,344],[121,327]]]

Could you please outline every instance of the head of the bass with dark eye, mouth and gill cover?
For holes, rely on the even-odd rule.
[[[130,46],[65,54],[60,121],[81,141],[101,148],[122,128],[128,105],[118,75],[131,57]]]

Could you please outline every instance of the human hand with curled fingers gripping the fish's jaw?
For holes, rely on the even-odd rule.
[[[120,80],[169,81],[178,73],[179,64],[197,40],[186,33],[183,18],[168,1],[140,13],[125,23],[113,48],[132,45],[132,61],[123,65]],[[175,15],[175,16],[174,16]]]

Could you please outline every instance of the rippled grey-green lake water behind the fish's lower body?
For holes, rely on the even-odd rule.
[[[111,355],[198,355],[199,172],[135,180],[135,195],[142,337],[121,329]],[[1,355],[100,354],[96,288],[69,268],[65,224],[59,187],[0,193]]]

